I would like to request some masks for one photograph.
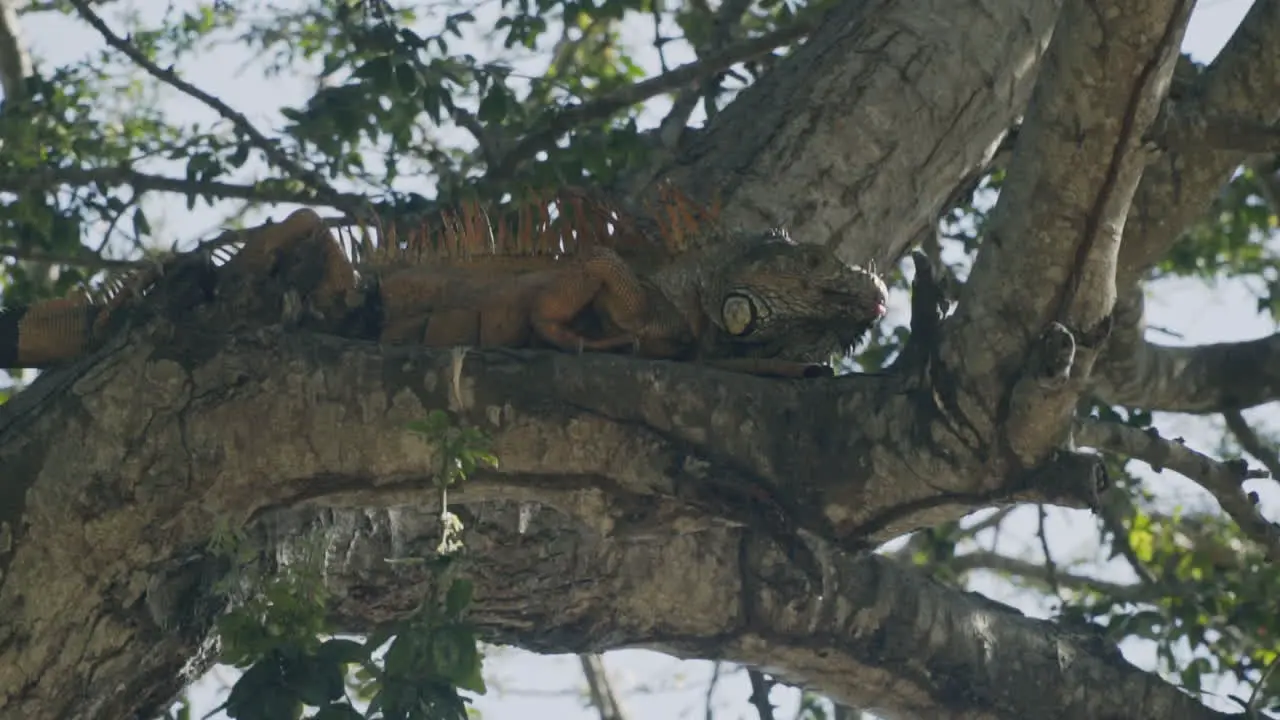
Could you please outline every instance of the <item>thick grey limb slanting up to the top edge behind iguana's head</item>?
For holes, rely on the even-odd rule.
[[[731,223],[890,265],[1021,114],[1059,5],[837,3],[660,172]]]

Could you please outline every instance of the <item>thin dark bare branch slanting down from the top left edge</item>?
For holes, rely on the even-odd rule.
[[[92,26],[93,29],[102,36],[108,45],[133,60],[134,64],[146,70],[151,77],[204,102],[224,119],[229,120],[232,126],[236,127],[237,132],[248,138],[253,146],[266,156],[269,163],[287,173],[289,177],[310,186],[317,196],[324,197],[328,202],[333,204],[334,208],[340,208],[351,214],[358,213],[361,206],[347,206],[346,200],[340,197],[329,186],[329,183],[320,177],[319,173],[303,168],[289,158],[273,140],[259,132],[259,129],[253,127],[253,124],[248,122],[248,118],[246,118],[242,113],[236,111],[230,105],[183,81],[178,77],[178,73],[172,69],[161,69],[159,65],[152,63],[141,50],[134,47],[132,42],[111,32],[111,28],[108,27],[106,22],[104,22],[92,8],[90,8],[86,0],[72,0],[72,5],[84,22]]]

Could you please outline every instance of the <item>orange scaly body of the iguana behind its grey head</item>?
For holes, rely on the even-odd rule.
[[[374,297],[361,297],[355,266],[312,210],[292,213],[279,232],[246,243],[228,266],[270,272],[279,256],[319,258],[321,279],[305,300],[330,316],[376,304],[381,315],[378,340],[385,343],[526,347],[540,341],[562,350],[617,350],[645,332],[646,293],[617,252],[589,238],[567,258],[539,254],[549,243],[552,231],[547,231],[525,249],[516,247],[516,241],[495,241],[524,250],[522,256],[476,254],[495,251],[475,247],[488,234],[468,224],[476,215],[465,213],[458,222],[466,227],[444,238],[449,254],[421,258],[428,254],[426,238],[381,252],[366,287]],[[531,232],[522,233],[522,240],[530,240]],[[589,338],[571,328],[596,301],[609,309],[611,323],[620,328],[612,337]]]

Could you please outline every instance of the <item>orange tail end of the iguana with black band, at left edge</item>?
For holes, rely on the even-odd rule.
[[[59,297],[0,310],[0,368],[45,369],[74,360],[88,348],[101,309]]]

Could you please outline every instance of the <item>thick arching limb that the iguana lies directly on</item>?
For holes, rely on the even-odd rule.
[[[788,536],[799,534],[859,548],[1094,480],[1087,456],[1039,475],[992,477],[964,448],[922,451],[915,438],[937,430],[928,413],[916,418],[919,395],[895,395],[892,378],[771,382],[689,364],[488,352],[466,357],[456,393],[445,354],[268,331],[229,337],[192,318],[172,322],[122,333],[0,407],[0,524],[13,538],[0,555],[0,637],[20,639],[0,646],[0,716],[128,716],[140,698],[168,700],[195,641],[160,639],[182,618],[155,598],[180,593],[148,587],[198,555],[218,520],[300,505],[429,506],[433,451],[404,429],[428,407],[452,406],[479,424],[502,459],[500,473],[451,497],[490,509],[538,502],[614,543],[736,528],[753,547],[790,552]],[[726,546],[733,559],[736,543]],[[644,556],[646,573],[663,575],[676,568],[664,562],[678,561]],[[573,577],[539,574],[535,556],[518,561],[529,565],[502,569],[508,585],[493,592],[520,593],[515,577]],[[804,574],[787,582],[815,593]],[[636,612],[654,607],[643,597]],[[721,623],[719,602],[689,607],[680,621]],[[543,632],[554,624],[524,626],[534,650],[564,639]],[[764,661],[755,641],[742,642],[746,660]],[[768,655],[804,675],[810,652],[797,644]]]

